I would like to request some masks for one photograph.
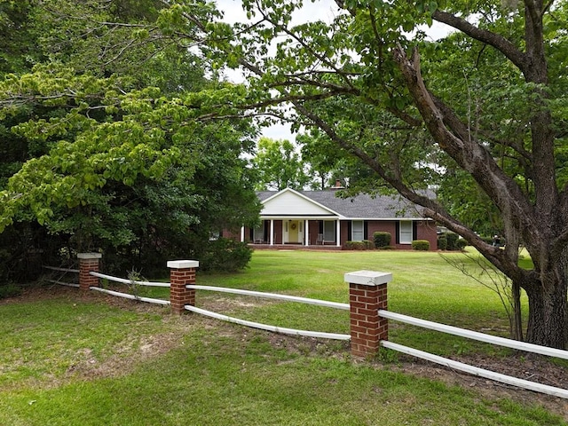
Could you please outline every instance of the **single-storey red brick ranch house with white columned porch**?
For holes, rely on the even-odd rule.
[[[430,250],[438,248],[435,222],[400,197],[359,194],[343,199],[335,196],[334,188],[286,188],[257,196],[264,206],[261,225],[241,228],[240,241],[258,248],[343,249],[347,241],[373,241],[377,231],[390,233],[390,245],[398,249],[412,248],[414,240],[430,241]]]

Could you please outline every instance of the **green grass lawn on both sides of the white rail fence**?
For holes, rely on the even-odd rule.
[[[343,274],[393,272],[390,309],[474,328],[506,327],[492,292],[433,253],[259,251],[235,274],[200,284],[347,302]],[[146,290],[147,291],[147,290]],[[154,288],[152,296],[164,296]],[[200,292],[241,318],[343,332],[343,312]],[[272,322],[275,321],[275,322]],[[353,362],[345,343],[313,343],[106,296],[0,304],[0,424],[6,425],[562,425],[528,401]],[[392,340],[442,353],[490,351],[395,327]],[[446,336],[447,338],[447,336]],[[452,340],[450,340],[452,342]],[[311,346],[312,345],[312,346]]]

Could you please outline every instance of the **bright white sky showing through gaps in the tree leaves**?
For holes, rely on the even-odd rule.
[[[217,0],[217,7],[225,12],[225,21],[228,23],[240,22],[247,20],[247,14],[242,9],[241,0]],[[333,0],[315,0],[304,2],[304,7],[292,17],[294,25],[323,20],[330,22],[337,15],[339,9]],[[427,33],[433,40],[444,37],[448,34],[449,27],[444,24],[435,22],[434,25],[427,30]],[[231,81],[239,82],[242,75],[238,72],[227,72],[226,77]],[[288,139],[296,141],[296,134],[292,133],[289,124],[273,124],[270,128],[266,128],[262,132],[263,136],[272,139]]]

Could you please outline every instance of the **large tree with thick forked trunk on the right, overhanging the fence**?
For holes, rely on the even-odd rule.
[[[525,289],[530,342],[566,346],[568,2],[335,0],[331,22],[294,26],[302,2],[245,0],[251,20],[233,30],[168,3],[186,18],[180,33],[196,24],[209,58],[245,70],[249,105],[281,117],[293,106],[296,123],[319,128]],[[429,42],[434,21],[454,34]],[[447,195],[417,191],[442,181],[484,194],[505,249],[479,238]],[[518,266],[521,242],[531,270]]]

